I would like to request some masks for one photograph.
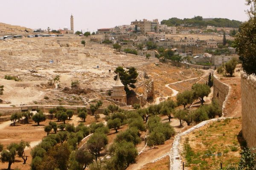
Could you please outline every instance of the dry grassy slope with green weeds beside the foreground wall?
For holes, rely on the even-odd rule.
[[[185,141],[191,147],[186,149]],[[183,161],[187,170],[215,170],[239,162],[241,145],[241,119],[213,122],[182,138]],[[187,145],[188,146],[188,145]]]

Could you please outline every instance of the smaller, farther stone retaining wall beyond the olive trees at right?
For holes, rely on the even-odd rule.
[[[216,76],[216,71],[213,74],[213,98],[217,99],[219,106],[222,108],[222,114],[225,113],[225,105],[230,87]]]

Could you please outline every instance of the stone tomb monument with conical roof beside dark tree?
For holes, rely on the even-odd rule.
[[[119,102],[120,106],[127,104],[125,86],[122,84],[119,74],[117,74],[116,83],[113,85],[113,91],[111,91],[111,99]]]

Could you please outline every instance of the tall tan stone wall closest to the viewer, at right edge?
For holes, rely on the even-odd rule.
[[[256,147],[256,77],[241,74],[242,133],[248,147]]]

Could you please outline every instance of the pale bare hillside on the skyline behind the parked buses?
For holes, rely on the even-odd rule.
[[[0,23],[0,34],[10,34],[12,33],[24,33],[25,29],[27,31],[33,31],[31,28],[26,28],[22,26],[12,26],[6,23]]]

